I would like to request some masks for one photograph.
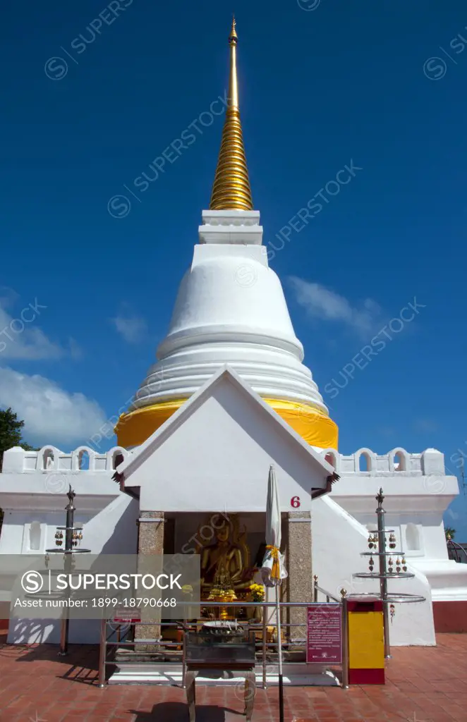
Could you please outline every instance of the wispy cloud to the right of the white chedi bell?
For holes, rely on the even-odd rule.
[[[360,333],[374,329],[381,308],[371,298],[366,298],[359,307],[355,307],[345,297],[319,283],[304,281],[296,276],[288,277],[288,281],[294,290],[297,303],[309,316],[321,321],[340,321]]]

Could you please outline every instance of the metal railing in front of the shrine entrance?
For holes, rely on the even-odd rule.
[[[332,663],[332,664],[320,664],[320,663],[310,663],[308,664],[306,661],[299,661],[296,660],[296,653],[302,651],[303,657],[306,659],[307,656],[307,622],[291,622],[291,621],[283,621],[283,612],[288,612],[291,609],[304,609],[305,614],[307,613],[307,607],[311,606],[309,602],[280,602],[280,613],[281,613],[281,627],[283,627],[285,630],[288,630],[288,633],[286,631],[286,634],[284,635],[284,638],[280,641],[280,648],[283,651],[283,654],[285,654],[286,659],[284,661],[284,664],[287,668],[288,664],[294,664],[294,666],[303,666],[304,669],[312,669],[313,671],[317,671],[317,669],[323,670],[323,669],[330,669],[330,667],[340,667],[341,668],[341,686],[343,689],[348,689],[348,617],[347,617],[347,599],[346,599],[346,591],[343,590],[343,594],[341,596],[341,599],[336,599],[335,596],[332,594],[326,592],[325,590],[321,589],[319,586],[317,586],[316,580],[314,580],[314,588],[313,588],[313,604],[317,604],[317,593],[321,592],[325,595],[327,601],[322,602],[322,606],[326,606],[326,604],[340,604],[341,606],[341,624],[342,624],[342,663]],[[333,601],[330,601],[332,599]],[[187,605],[189,606],[189,605]],[[278,640],[277,640],[277,627],[274,622],[274,617],[276,612],[276,604],[275,602],[242,602],[241,605],[239,605],[238,601],[233,602],[214,602],[210,601],[209,604],[202,604],[202,606],[205,609],[232,609],[232,612],[235,611],[235,609],[239,609],[239,606],[241,608],[247,608],[247,607],[257,607],[262,609],[262,620],[260,623],[254,623],[251,620],[241,620],[240,624],[242,627],[245,628],[245,631],[247,632],[262,632],[262,639],[257,640],[257,656],[260,657],[258,659],[258,664],[261,664],[262,668],[262,687],[264,689],[267,688],[267,676],[268,676],[268,670],[272,671],[275,669],[275,666],[277,665],[277,659],[275,658],[276,655],[274,653],[274,650],[277,651],[278,649]],[[267,612],[273,612],[272,615],[269,616]],[[285,616],[285,615],[284,615]],[[108,619],[103,619],[101,623],[100,628],[100,655],[99,655],[99,669],[98,669],[98,685],[99,687],[105,687],[106,686],[106,669],[108,666],[119,666],[119,664],[145,664],[144,662],[140,660],[138,661],[116,661],[115,654],[112,655],[112,658],[109,658],[109,648],[113,649],[113,651],[116,651],[116,648],[134,648],[134,651],[137,652],[138,657],[154,657],[155,651],[137,651],[137,648],[142,648],[143,646],[152,646],[158,648],[158,653],[162,654],[163,651],[170,652],[173,650],[173,648],[176,648],[175,651],[178,651],[181,653],[181,658],[177,659],[176,661],[164,661],[164,664],[170,665],[170,664],[176,664],[177,666],[181,663],[181,686],[185,686],[185,676],[187,672],[187,659],[186,659],[186,643],[185,643],[185,635],[188,630],[197,631],[202,627],[203,624],[205,624],[207,620],[204,619],[196,619],[196,620],[190,620],[188,622],[180,622],[179,620],[173,620],[173,622],[162,622],[162,621],[145,621],[145,622],[111,622]],[[112,625],[111,633],[108,634],[108,628],[109,625]],[[159,638],[155,639],[138,639],[136,635],[134,634],[134,638],[132,640],[127,640],[127,635],[130,630],[133,630],[134,632],[137,630],[137,627],[145,626],[145,627],[160,627],[161,629],[161,635]],[[162,630],[166,627],[173,627],[176,630],[179,630],[181,632],[181,640],[177,640],[174,642],[171,642],[169,640],[163,639],[162,637]],[[304,630],[303,635],[294,635],[293,629],[296,630],[297,627],[301,627],[302,630]],[[121,635],[121,628],[123,628],[124,635]],[[275,630],[275,639],[273,635],[270,635],[271,628]],[[268,640],[269,639],[269,640]],[[181,649],[180,649],[181,648]],[[288,661],[287,656],[288,653],[291,653],[291,651],[294,652],[294,661]],[[152,661],[152,664],[154,662]]]

